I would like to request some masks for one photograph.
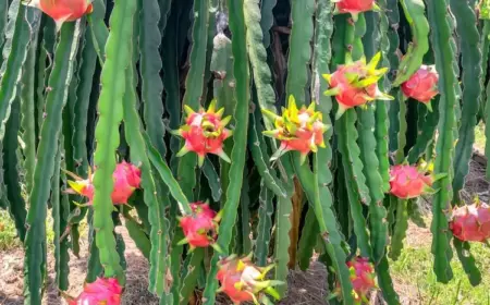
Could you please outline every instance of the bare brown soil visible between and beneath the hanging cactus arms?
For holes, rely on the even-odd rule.
[[[479,195],[483,202],[488,202],[489,183],[485,179],[486,159],[479,154],[474,155],[470,162],[470,173],[467,175],[465,190],[462,192],[463,199],[470,199],[475,195]],[[427,211],[430,210],[429,203],[426,203]],[[121,227],[119,227],[121,228]],[[430,243],[431,234],[427,228],[419,228],[411,224],[407,233],[407,244],[425,245]],[[145,304],[156,305],[158,298],[150,294],[148,286],[148,261],[136,248],[133,241],[128,237],[124,228],[120,233],[126,243],[126,261],[127,261],[127,283],[124,293],[123,304]],[[81,245],[81,257],[71,255],[70,258],[70,290],[71,295],[77,295],[83,286],[86,273],[87,244]],[[23,257],[22,248],[0,252],[0,305],[22,305],[24,304],[23,292]],[[54,261],[52,255],[48,255],[48,285],[45,293],[42,304],[61,305],[64,304],[58,294],[58,290],[53,284],[54,279]],[[322,264],[313,261],[310,268],[303,272],[292,270],[287,279],[287,297],[281,305],[321,305],[327,304],[324,301],[327,295],[327,270]],[[413,286],[405,286],[394,279],[395,290],[401,296],[402,304],[415,305],[420,304],[416,290]],[[197,302],[196,304],[200,304]],[[223,295],[219,295],[217,304],[232,304]],[[375,293],[371,295],[371,304],[384,304],[382,295]]]

